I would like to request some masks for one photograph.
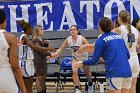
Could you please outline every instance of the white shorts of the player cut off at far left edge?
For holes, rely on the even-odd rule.
[[[0,93],[18,93],[18,86],[11,68],[0,68]]]

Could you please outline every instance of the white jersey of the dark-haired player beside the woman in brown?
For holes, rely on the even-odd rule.
[[[20,36],[20,40],[22,40],[23,36],[26,34],[22,34]],[[32,49],[26,44],[26,45],[20,45],[19,46],[19,59],[20,60],[33,60],[33,51]]]

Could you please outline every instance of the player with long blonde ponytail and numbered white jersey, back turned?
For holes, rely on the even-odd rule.
[[[137,29],[130,24],[130,20],[131,19],[128,11],[120,11],[118,16],[118,22],[120,26],[116,29],[116,31],[124,39],[130,53],[129,63],[133,77],[130,93],[136,93],[137,76],[140,70],[136,48],[137,44],[140,45],[140,34],[138,33]]]

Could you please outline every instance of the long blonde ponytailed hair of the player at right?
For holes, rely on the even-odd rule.
[[[131,48],[132,47],[132,41],[131,41],[131,39],[132,39],[132,35],[133,34],[132,34],[132,31],[131,31],[131,24],[130,24],[131,18],[130,18],[130,14],[129,14],[128,11],[122,10],[122,11],[119,12],[119,17],[122,19],[122,22],[127,23],[127,29],[129,31],[128,35],[130,37],[130,45],[129,45],[129,48]]]

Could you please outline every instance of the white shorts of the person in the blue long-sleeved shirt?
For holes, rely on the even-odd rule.
[[[108,90],[130,89],[132,77],[129,78],[108,78],[106,79]]]

